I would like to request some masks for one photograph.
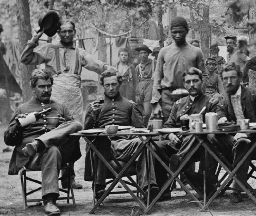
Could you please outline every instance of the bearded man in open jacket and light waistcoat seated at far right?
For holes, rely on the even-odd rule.
[[[223,100],[218,104],[218,123],[226,121],[236,122],[238,119],[250,119],[250,122],[256,122],[256,89],[241,86],[242,76],[240,67],[235,62],[228,62],[223,66],[221,78],[226,93]],[[236,133],[235,136],[212,135],[209,141],[221,150],[221,153],[229,162],[235,165],[246,154],[251,145],[256,142],[256,137],[253,134],[246,133]],[[251,155],[256,155],[255,149]],[[236,172],[236,176],[243,182],[247,181],[246,177],[250,162],[251,156],[244,161]],[[242,189],[235,181],[233,181],[231,187],[233,190],[230,202],[242,202]]]

